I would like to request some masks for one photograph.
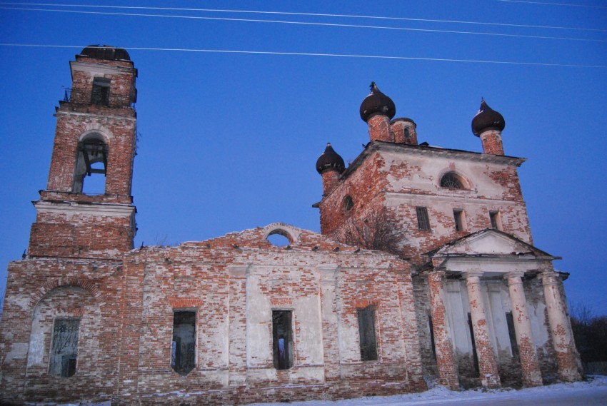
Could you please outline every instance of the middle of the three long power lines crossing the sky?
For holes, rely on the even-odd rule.
[[[438,29],[413,29],[405,27],[390,27],[390,26],[367,26],[358,24],[332,24],[332,23],[314,23],[309,21],[281,21],[281,20],[264,20],[264,19],[232,19],[226,17],[203,17],[203,16],[177,16],[174,14],[141,14],[141,13],[114,13],[109,11],[81,11],[81,10],[54,10],[54,9],[33,9],[24,7],[0,7],[4,10],[24,10],[24,11],[51,11],[56,13],[75,13],[75,14],[101,14],[109,16],[139,16],[139,17],[162,17],[174,19],[197,19],[197,20],[218,20],[218,21],[247,21],[259,23],[274,23],[274,24],[294,24],[306,26],[334,26],[348,28],[364,28],[364,29],[387,29],[396,31],[421,31],[421,32],[439,32],[443,34],[471,34],[471,35],[488,35],[488,36],[507,36],[513,38],[531,38],[531,39],[557,39],[566,41],[592,41],[592,42],[607,42],[604,39],[582,39],[559,36],[536,36],[522,34],[498,34],[478,31],[457,31],[457,30],[438,30]]]

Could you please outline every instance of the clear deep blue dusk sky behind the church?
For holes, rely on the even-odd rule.
[[[570,302],[607,314],[604,1],[32,4],[0,3],[0,292],[46,188],[69,61],[111,44],[139,69],[136,246],[275,221],[318,231],[314,163],[328,141],[346,161],[368,142],[358,107],[371,81],[420,142],[446,148],[481,151],[470,123],[483,96],[506,118],[506,154],[528,158],[535,245],[563,257]]]

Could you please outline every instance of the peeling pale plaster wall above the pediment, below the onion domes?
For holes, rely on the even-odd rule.
[[[406,230],[403,256],[423,263],[421,255],[468,233],[491,227],[489,211],[499,211],[502,230],[531,243],[526,206],[516,166],[466,156],[428,156],[381,151],[388,179],[386,206]],[[444,173],[456,172],[463,189],[441,188]],[[430,230],[419,230],[416,207],[426,207]],[[463,210],[464,229],[456,230],[453,209]]]

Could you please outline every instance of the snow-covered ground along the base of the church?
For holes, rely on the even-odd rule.
[[[284,405],[284,403],[255,403],[250,406]],[[435,387],[427,392],[410,395],[363,397],[361,399],[293,402],[294,406],[406,406],[406,405],[607,405],[607,376],[594,375],[586,382],[558,383],[521,390],[466,390],[453,392]]]

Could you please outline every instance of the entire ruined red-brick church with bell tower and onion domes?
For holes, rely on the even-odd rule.
[[[0,402],[207,405],[579,380],[558,259],[533,246],[503,116],[483,153],[418,144],[373,84],[370,142],[326,146],[321,234],[283,223],[134,249],[136,68],[70,62],[27,255],[9,265]],[[87,194],[90,177],[105,193]],[[269,236],[289,240],[273,245]]]

